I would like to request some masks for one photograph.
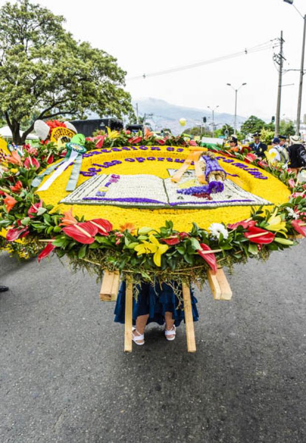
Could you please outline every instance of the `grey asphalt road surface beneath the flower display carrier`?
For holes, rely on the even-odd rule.
[[[150,326],[123,353],[99,285],[57,258],[0,254],[0,442],[305,443],[306,241],[199,293],[197,352],[184,326]]]

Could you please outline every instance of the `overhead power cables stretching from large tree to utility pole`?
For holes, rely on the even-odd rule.
[[[185,64],[183,66],[177,66],[177,67],[173,67],[173,68],[168,68],[168,69],[164,69],[162,71],[155,71],[155,72],[151,72],[148,74],[142,74],[142,75],[137,75],[135,77],[127,77],[126,80],[139,80],[139,79],[146,79],[148,77],[156,77],[158,75],[164,75],[164,74],[171,74],[172,72],[179,72],[179,71],[184,71],[186,69],[192,69],[195,67],[199,67],[199,66],[204,66],[206,64],[212,64],[212,63],[218,63],[218,62],[222,62],[223,60],[229,60],[229,59],[234,59],[236,57],[241,57],[243,55],[248,55],[248,54],[252,54],[255,52],[260,52],[260,51],[266,51],[267,49],[271,49],[273,42],[275,42],[275,40],[278,40],[278,38],[274,38],[272,40],[268,40],[264,43],[260,43],[256,46],[253,46],[249,49],[245,48],[243,51],[239,51],[239,52],[235,52],[233,54],[228,54],[226,56],[221,56],[221,57],[217,57],[214,59],[210,59],[210,60],[203,60],[201,62],[196,62],[196,63],[190,63],[190,64]]]

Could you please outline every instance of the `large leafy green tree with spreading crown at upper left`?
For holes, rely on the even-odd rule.
[[[22,144],[37,119],[85,117],[86,111],[121,118],[132,115],[125,72],[106,52],[77,42],[64,18],[30,0],[0,8],[0,114],[15,143]]]

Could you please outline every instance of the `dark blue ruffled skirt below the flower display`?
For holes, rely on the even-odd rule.
[[[118,323],[124,323],[125,288],[125,282],[122,282],[115,307],[114,321]],[[165,323],[165,312],[172,312],[172,318],[176,326],[179,326],[181,321],[184,320],[184,303],[182,301],[178,308],[179,300],[171,286],[163,283],[160,287],[158,283],[155,283],[155,287],[153,287],[150,283],[142,283],[140,287],[138,286],[138,289],[137,301],[133,297],[133,325],[135,325],[138,316],[146,314],[149,314],[147,323],[156,322],[163,325]],[[193,321],[197,321],[199,318],[196,307],[197,299],[194,297],[191,288],[190,295]]]

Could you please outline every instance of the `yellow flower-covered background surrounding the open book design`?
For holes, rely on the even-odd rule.
[[[118,148],[121,149],[121,148]],[[90,167],[98,168],[92,163],[103,163],[104,161],[120,160],[121,164],[116,164],[109,168],[102,168],[99,174],[153,174],[161,178],[168,178],[167,169],[178,169],[181,163],[169,162],[166,158],[180,158],[185,159],[189,154],[189,150],[177,153],[177,147],[173,147],[174,152],[167,151],[167,147],[160,147],[159,151],[151,150],[148,147],[147,151],[120,151],[102,153],[94,155],[89,158],[84,158],[82,163],[82,171],[87,171]],[[124,158],[136,157],[164,157],[165,160],[146,160],[144,162],[124,161]],[[244,163],[238,159],[235,162]],[[268,180],[260,180],[254,178],[252,175],[230,163],[225,163],[219,160],[220,165],[230,174],[238,174],[239,177],[228,177],[244,190],[252,192],[262,198],[265,198],[275,205],[288,201],[291,194],[290,190],[275,177],[260,169],[262,175],[269,177]],[[247,163],[244,163],[247,164]],[[249,167],[254,167],[248,165]],[[191,167],[192,168],[192,167]],[[50,186],[46,191],[40,191],[38,194],[46,204],[55,206],[55,210],[61,213],[66,212],[69,207],[64,204],[59,204],[59,201],[65,197],[68,192],[65,191],[72,166],[69,166],[66,171]],[[44,178],[44,181],[48,177]],[[80,175],[78,186],[91,177],[84,177]],[[43,182],[44,182],[43,181]],[[43,183],[42,182],[42,183]],[[271,206],[268,206],[271,210]],[[150,226],[157,229],[164,225],[166,220],[172,220],[174,228],[179,231],[189,231],[192,227],[192,222],[196,222],[202,228],[208,228],[213,222],[234,223],[247,219],[250,214],[249,206],[229,206],[214,209],[139,209],[139,208],[120,208],[117,206],[102,206],[102,205],[74,205],[73,214],[81,217],[85,216],[86,220],[94,218],[104,218],[109,220],[115,229],[124,223],[133,223],[136,227]]]

